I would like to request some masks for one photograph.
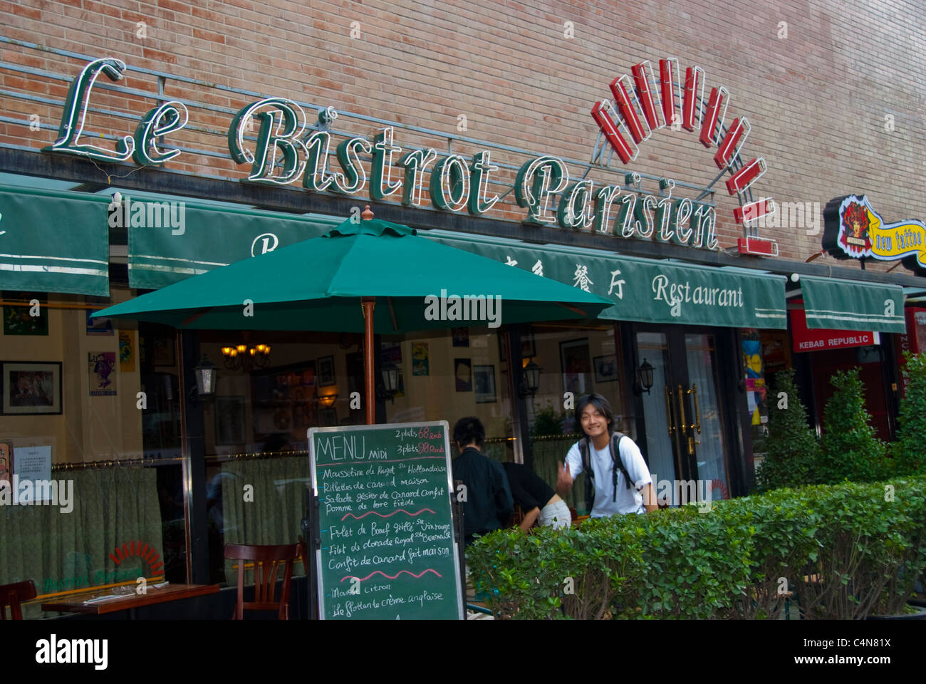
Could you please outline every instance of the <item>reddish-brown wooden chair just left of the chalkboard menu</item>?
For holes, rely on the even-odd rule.
[[[293,563],[299,553],[298,544],[257,546],[226,544],[225,558],[238,562],[238,603],[232,620],[243,620],[244,611],[277,611],[278,620],[289,619],[289,589],[293,578]],[[254,601],[244,602],[244,563],[254,562]],[[280,599],[274,601],[277,573],[283,565]]]

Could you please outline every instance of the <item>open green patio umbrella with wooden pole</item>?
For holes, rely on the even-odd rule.
[[[195,275],[94,316],[188,329],[363,331],[371,423],[374,332],[591,318],[613,304],[371,216],[368,207],[362,222],[347,220],[320,237]],[[470,315],[459,318],[467,309]]]

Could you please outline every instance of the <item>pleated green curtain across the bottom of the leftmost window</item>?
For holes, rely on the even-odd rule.
[[[69,513],[51,505],[0,508],[0,584],[31,579],[39,594],[24,617],[56,616],[40,609],[48,594],[163,574],[154,468],[62,471],[53,479],[73,482]],[[150,563],[139,553],[144,544],[156,550]]]

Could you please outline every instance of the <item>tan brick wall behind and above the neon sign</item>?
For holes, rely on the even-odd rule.
[[[914,192],[926,171],[926,38],[918,28],[924,20],[926,6],[897,0],[0,0],[6,38],[119,57],[131,67],[202,81],[169,80],[165,92],[171,96],[219,108],[255,99],[214,82],[581,160],[589,158],[597,133],[589,110],[610,96],[608,82],[642,59],[657,65],[659,57],[678,57],[682,71],[704,68],[708,89],[722,84],[730,90],[728,122],[734,116],[751,121],[745,158],[762,156],[770,165],[754,187],[756,196],[822,207],[833,196],[865,193],[887,221],[926,217],[926,203]],[[359,37],[352,38],[355,21]],[[144,38],[138,22],[144,22]],[[780,22],[787,24],[786,37],[779,37]],[[0,59],[69,77],[83,66],[80,59],[10,44],[0,44]],[[155,77],[137,72],[125,85],[145,93],[157,88]],[[62,100],[67,82],[0,70],[0,88]],[[94,106],[141,115],[154,100],[97,89]],[[56,127],[61,108],[0,95],[0,115],[28,120],[31,114]],[[465,133],[457,131],[461,114]],[[894,118],[890,132],[888,114]],[[218,156],[184,153],[168,170],[241,177],[242,167],[224,146],[230,121],[228,113],[191,109],[190,125],[170,142]],[[96,132],[120,135],[135,125],[103,114],[91,115],[89,123]],[[362,135],[376,127],[356,120],[350,125],[351,133]],[[446,149],[446,140],[401,135],[398,145]],[[713,151],[697,135],[657,131],[629,168],[707,184],[717,169]],[[54,138],[53,131],[0,121],[0,145],[41,147]],[[471,154],[475,148],[454,149]],[[516,157],[507,161],[524,159]],[[736,203],[722,182],[717,187],[720,244],[731,247],[742,234],[732,221]],[[524,210],[509,206],[493,215],[520,220]],[[820,235],[801,229],[765,234],[779,240],[788,259],[804,260],[820,249]]]

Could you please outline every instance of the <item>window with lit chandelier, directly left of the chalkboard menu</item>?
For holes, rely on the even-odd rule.
[[[237,582],[225,544],[294,544],[310,485],[307,431],[364,424],[361,336],[203,331],[200,358],[219,367],[203,402],[209,581]],[[252,353],[253,351],[253,353]],[[294,565],[294,576],[304,566]]]

